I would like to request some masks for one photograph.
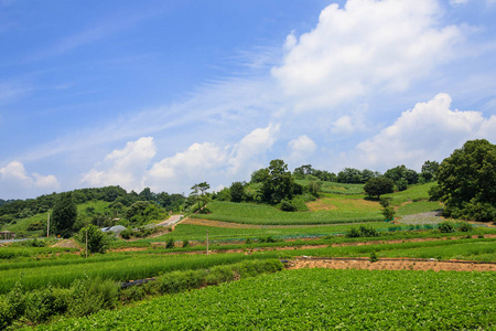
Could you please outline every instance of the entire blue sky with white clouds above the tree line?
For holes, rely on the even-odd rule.
[[[496,0],[0,0],[0,199],[496,143]]]

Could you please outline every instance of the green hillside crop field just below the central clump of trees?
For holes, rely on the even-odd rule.
[[[192,215],[194,218],[258,225],[310,225],[381,221],[380,211],[369,212],[348,207],[320,212],[282,212],[263,204],[214,201],[208,204],[212,214]]]

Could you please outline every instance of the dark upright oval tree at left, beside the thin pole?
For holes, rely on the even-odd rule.
[[[61,193],[51,216],[51,226],[54,233],[68,238],[76,218],[77,205],[73,200],[73,194],[71,192]]]

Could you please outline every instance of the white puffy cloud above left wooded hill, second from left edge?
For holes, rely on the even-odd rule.
[[[109,153],[97,168],[85,173],[82,182],[91,186],[120,185],[127,190],[141,191],[144,188],[143,173],[155,153],[155,143],[151,137],[130,141],[123,149]]]

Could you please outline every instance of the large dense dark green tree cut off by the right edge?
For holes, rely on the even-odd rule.
[[[496,218],[496,146],[468,140],[444,159],[436,173],[444,214],[460,218]]]

